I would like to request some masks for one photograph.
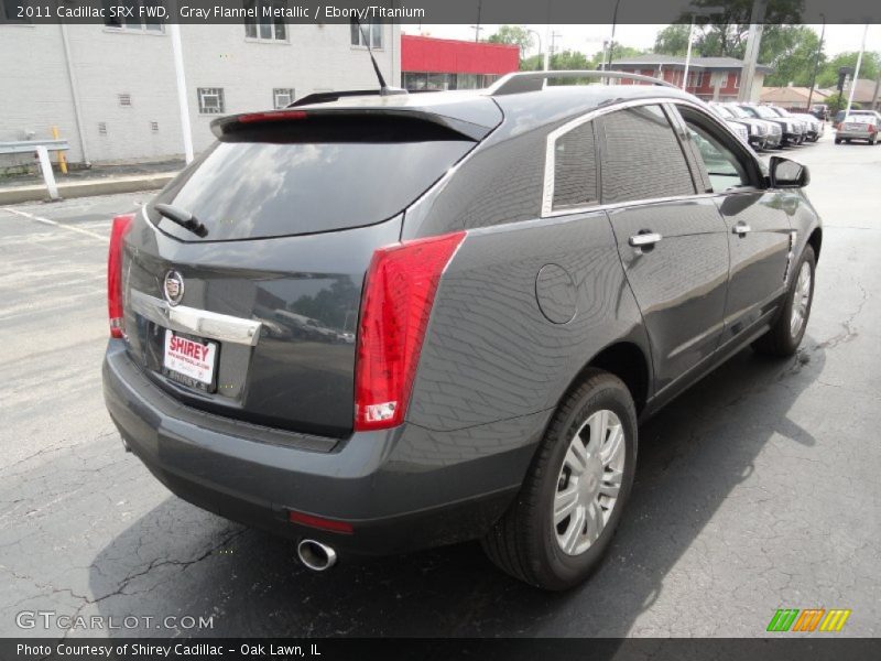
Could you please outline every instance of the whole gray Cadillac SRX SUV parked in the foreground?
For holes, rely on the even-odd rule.
[[[597,73],[216,120],[113,221],[126,446],[315,570],[479,539],[532,585],[583,581],[639,422],[743,347],[794,354],[822,228],[806,169],[765,167],[703,101],[542,89],[573,75]],[[319,332],[276,334],[302,319]]]

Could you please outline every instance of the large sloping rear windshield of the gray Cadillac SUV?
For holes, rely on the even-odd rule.
[[[373,225],[400,214],[475,145],[466,139],[377,140],[369,127],[363,139],[355,140],[350,131],[342,139],[328,139],[324,132],[318,138],[284,141],[276,134],[267,140],[255,133],[210,147],[153,201],[195,216],[208,230],[203,239],[163,218],[152,205],[148,216],[184,241]]]

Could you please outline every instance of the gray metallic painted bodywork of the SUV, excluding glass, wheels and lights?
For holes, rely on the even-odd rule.
[[[645,418],[764,333],[792,261],[819,227],[803,193],[768,189],[765,181],[706,193],[706,173],[685,149],[694,196],[543,217],[553,131],[622,99],[695,102],[672,89],[591,87],[476,102],[445,94],[328,104],[425,112],[436,98],[438,112],[460,121],[504,116],[385,223],[216,245],[184,243],[139,223],[127,238],[128,288],[161,296],[157,275],[176,269],[187,282],[184,304],[263,325],[255,346],[221,347],[232,388],[204,395],[151,369],[154,329],[127,305],[130,339],[110,342],[104,379],[130,447],[182,497],[281,534],[366,553],[475,539],[515,497],[561,399],[610,347],[639,356]],[[752,227],[744,237],[732,232],[741,221]],[[463,229],[404,424],[352,433],[347,333],[357,327],[373,250]],[[641,230],[663,240],[634,249],[629,239]],[[279,312],[306,300],[302,316],[320,328],[297,336],[296,317],[280,321]],[[291,510],[351,522],[356,533],[292,524]]]

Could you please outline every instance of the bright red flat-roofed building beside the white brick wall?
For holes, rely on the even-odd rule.
[[[520,68],[520,48],[401,35],[401,86],[404,89],[476,89]]]

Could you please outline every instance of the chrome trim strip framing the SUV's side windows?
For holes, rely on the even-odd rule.
[[[632,205],[642,205],[642,204],[651,204],[651,203],[660,203],[660,202],[675,202],[678,199],[699,199],[703,197],[716,197],[722,195],[722,193],[696,193],[694,195],[676,195],[673,197],[657,197],[657,198],[650,198],[650,199],[630,199],[628,202],[622,203],[611,203],[611,204],[589,204],[580,207],[566,207],[564,209],[553,210],[552,205],[554,201],[554,143],[561,136],[565,136],[573,129],[580,127],[583,123],[587,123],[588,121],[592,121],[598,117],[602,117],[603,115],[609,115],[610,112],[616,112],[618,110],[623,110],[626,108],[635,108],[640,106],[652,106],[652,105],[666,105],[666,104],[675,104],[682,106],[690,106],[697,110],[700,110],[705,116],[707,116],[716,126],[718,126],[721,130],[727,131],[729,136],[731,136],[738,142],[742,142],[740,138],[728,126],[726,126],[722,121],[716,119],[713,116],[713,111],[708,110],[707,108],[703,107],[700,104],[696,104],[688,99],[679,99],[675,97],[645,97],[641,99],[630,99],[628,101],[621,101],[619,104],[610,104],[603,108],[595,108],[572,121],[566,122],[562,127],[558,127],[551,131],[547,134],[547,140],[545,141],[545,158],[544,158],[544,186],[542,191],[542,218],[552,218],[556,216],[568,216],[572,214],[584,214],[588,212],[596,212],[600,209],[611,209],[622,206],[632,206]],[[673,130],[676,130],[676,127],[671,127]],[[755,159],[753,159],[755,161]],[[755,162],[755,167],[759,169],[758,161]],[[761,171],[761,170],[760,170]],[[753,189],[753,188],[750,188]]]

